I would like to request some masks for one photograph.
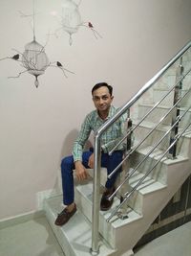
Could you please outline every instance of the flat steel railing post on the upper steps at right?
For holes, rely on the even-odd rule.
[[[183,66],[182,66],[182,57],[180,58],[180,65],[177,69],[177,74],[176,74],[176,81],[179,81],[181,78],[181,75],[183,73]],[[175,87],[175,93],[174,93],[174,101],[173,104],[175,105],[180,97],[181,97],[181,89],[182,89],[182,81],[178,82],[176,87]],[[171,125],[173,126],[175,122],[177,121],[177,118],[180,116],[180,104],[176,105],[175,111],[173,111],[172,114],[172,123]],[[177,125],[172,128],[171,134],[170,134],[170,145],[174,142],[176,135],[179,132],[179,122]],[[168,152],[168,157],[171,159],[174,159],[177,155],[177,143],[170,149]]]

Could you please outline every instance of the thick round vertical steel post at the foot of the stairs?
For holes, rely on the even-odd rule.
[[[98,247],[98,226],[99,226],[99,194],[100,194],[100,166],[101,166],[101,149],[100,136],[95,135],[95,167],[93,183],[93,212],[92,212],[92,247],[91,254],[99,253]]]

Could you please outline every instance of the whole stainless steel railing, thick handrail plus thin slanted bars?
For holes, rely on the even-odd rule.
[[[99,186],[100,186],[100,159],[101,159],[101,148],[100,148],[100,137],[101,135],[103,134],[103,132],[107,129],[107,128],[110,128],[116,121],[117,119],[123,115],[124,113],[126,113],[127,111],[129,111],[130,107],[134,104],[136,104],[138,102],[138,100],[141,98],[141,96],[146,92],[148,91],[150,88],[153,87],[153,85],[159,81],[159,79],[165,74],[165,72],[173,65],[176,63],[176,61],[178,59],[180,59],[187,51],[188,49],[191,48],[191,42],[189,42],[188,44],[186,44],[181,50],[180,52],[174,57],[172,58],[157,74],[156,76],[154,76],[150,81],[148,81],[139,91],[138,93],[129,101],[127,102],[125,105],[123,105],[118,111],[117,113],[110,119],[108,120],[107,122],[105,122],[103,124],[102,127],[98,128],[96,130],[96,133],[95,133],[95,170],[94,170],[94,173],[95,173],[95,177],[94,177],[94,191],[93,191],[93,228],[92,228],[92,248],[91,248],[91,253],[93,255],[96,255],[98,254],[99,252],[99,248],[98,248],[98,223],[99,223]],[[170,89],[170,91],[167,93],[167,95],[169,95],[173,90],[174,88],[188,75],[188,73],[190,72],[190,70],[188,70],[183,76],[180,77],[180,79],[176,82],[176,84],[174,85],[173,88]],[[164,96],[160,101],[159,103],[157,103],[156,105],[154,105],[152,107],[152,109],[146,113],[146,115],[144,115],[144,117],[138,122],[138,125],[143,121],[145,120],[145,118],[154,110],[156,109],[156,107],[167,97]],[[183,97],[181,97],[182,99],[187,95],[187,93],[185,93],[185,95]],[[180,104],[180,101],[181,99],[178,99],[178,101],[173,105],[172,109],[170,109],[168,111],[168,114],[173,111],[173,109],[175,107],[177,107],[179,104]],[[155,145],[155,149],[159,146],[159,143],[167,136],[167,134],[169,134],[169,132],[172,130],[172,128],[175,128],[179,123],[180,123],[180,120],[181,118],[189,111],[190,108],[188,108],[183,115],[181,116],[178,116],[176,121],[174,122],[174,124],[172,125],[172,127],[165,133],[165,136],[162,136],[162,139],[160,139],[157,144]],[[161,118],[161,120],[159,121],[159,123],[157,124],[157,126],[155,128],[152,129],[152,131],[149,132],[149,135],[156,129],[159,127],[159,124],[161,124],[161,122],[166,118],[166,116],[168,115],[166,114],[164,117]],[[126,136],[119,142],[119,143],[122,143],[126,138],[127,136],[134,130],[136,129],[137,126],[135,126],[134,128],[130,129],[129,132],[126,134]],[[173,138],[173,142],[170,144],[170,146],[166,149],[166,151],[164,151],[164,153],[162,153],[162,155],[159,157],[159,161],[164,157],[164,155],[169,151],[171,150],[177,143],[177,141],[180,139],[180,136],[182,136],[182,134],[186,131],[186,129],[190,126],[191,124],[188,124],[187,126],[185,126],[185,128],[182,129],[182,131],[178,134],[176,134],[176,136]],[[148,136],[149,136],[148,135]],[[147,137],[148,137],[147,136]],[[133,151],[136,151],[136,149],[139,147],[139,145],[141,145],[143,143],[143,141],[145,141],[145,139],[143,139],[142,141],[140,141],[140,143],[132,150],[128,151],[127,152],[127,155],[125,155],[125,158],[123,160],[123,162],[131,155],[131,153]],[[118,144],[119,144],[118,143]],[[118,145],[117,145],[118,146]],[[117,147],[116,146],[116,147]],[[109,153],[112,153],[113,151],[115,151],[116,147],[110,151]],[[152,152],[152,151],[151,151]],[[150,153],[151,153],[150,152]],[[149,155],[149,154],[148,154]],[[145,159],[146,157],[145,156]],[[144,159],[144,160],[145,160]],[[145,177],[147,175],[149,175],[153,169],[156,167],[156,165],[159,163],[159,161],[157,161],[157,163],[154,165],[154,167],[152,167],[151,170],[149,170],[146,175],[144,175],[139,181],[138,181],[138,184],[136,185],[135,188],[132,189],[132,191],[129,193],[126,193],[124,196],[125,198],[123,199],[123,201],[120,203],[120,205],[117,207],[117,210],[124,204],[124,202],[130,198],[132,196],[132,194],[134,193],[134,191],[138,188],[138,186],[143,182],[143,180],[145,179]],[[141,162],[142,163],[142,162]],[[117,167],[119,168],[120,166],[122,165],[122,163]],[[140,165],[140,163],[138,164]],[[138,168],[137,168],[138,169]],[[113,174],[114,172],[116,172],[116,170],[113,171]],[[112,174],[111,174],[112,175]],[[131,173],[131,175],[133,175],[133,173]],[[127,181],[127,179],[130,177],[130,175],[127,175],[127,177],[123,180],[123,184]],[[122,185],[121,185],[122,186]],[[119,189],[117,189],[118,191]],[[117,192],[115,192],[115,194],[113,194],[111,196],[114,197],[116,195]],[[111,218],[116,214],[117,211],[115,211],[115,213],[112,214],[112,216],[108,219],[108,221],[111,220]]]

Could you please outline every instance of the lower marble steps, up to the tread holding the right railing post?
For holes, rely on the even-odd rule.
[[[110,211],[100,211],[99,255],[133,255],[132,249],[138,243],[138,240],[150,224],[155,221],[170,198],[178,191],[187,176],[191,174],[188,158],[178,157],[176,162],[165,160],[162,165],[163,175],[155,174],[155,179],[148,177],[129,202],[128,219],[122,221],[115,216],[110,222],[106,221],[110,212],[118,204],[117,198],[115,198]],[[102,182],[104,182],[106,170],[102,170],[102,172],[104,173]],[[133,175],[130,179],[130,186],[135,186],[140,176],[142,174],[138,172]],[[160,181],[156,180],[158,176]],[[90,255],[92,192],[91,179],[87,183],[75,186],[77,213],[62,227],[54,225],[57,213],[63,209],[62,196],[49,198],[45,201],[47,218],[66,256]]]

